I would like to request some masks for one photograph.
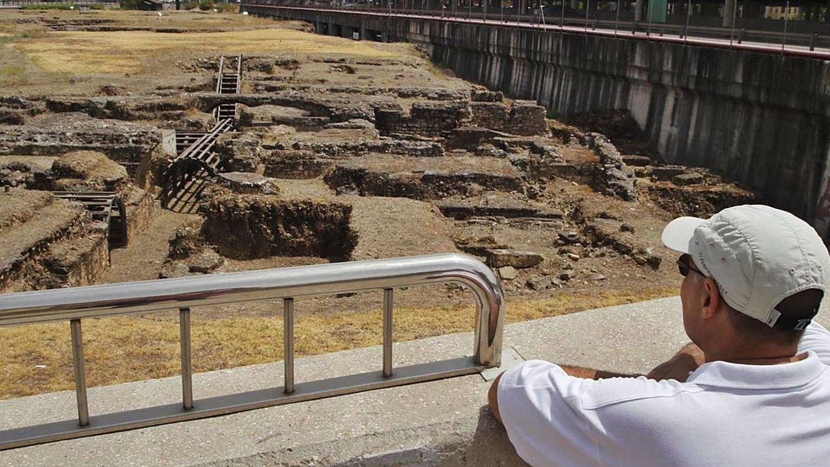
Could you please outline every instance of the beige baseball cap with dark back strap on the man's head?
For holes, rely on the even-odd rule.
[[[780,209],[746,204],[709,219],[681,217],[666,225],[662,241],[691,255],[730,307],[769,327],[807,327],[818,307],[800,320],[782,317],[775,307],[803,290],[827,291],[828,248],[813,227]]]

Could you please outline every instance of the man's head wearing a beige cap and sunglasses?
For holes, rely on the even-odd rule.
[[[815,229],[779,209],[744,205],[666,225],[678,267],[683,323],[701,348],[793,348],[818,312],[830,255]],[[727,348],[724,348],[727,347]]]

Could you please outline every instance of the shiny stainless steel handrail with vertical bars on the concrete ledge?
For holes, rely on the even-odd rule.
[[[457,283],[470,289],[476,297],[473,355],[402,366],[393,371],[393,289],[431,283]],[[295,385],[295,297],[372,289],[383,289],[382,371]],[[275,298],[284,301],[284,385],[270,390],[193,400],[190,308]],[[179,312],[182,404],[90,416],[86,403],[81,320],[160,310]],[[476,258],[462,254],[319,264],[0,295],[0,326],[70,321],[79,414],[78,420],[0,430],[0,450],[470,374],[500,364],[504,310],[504,292],[491,269]]]

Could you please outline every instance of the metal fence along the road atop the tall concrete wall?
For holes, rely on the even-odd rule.
[[[586,0],[576,2],[549,1],[528,2],[527,0],[369,0],[368,2],[344,2],[340,0],[246,0],[244,5],[297,6],[335,9],[354,12],[384,12],[427,17],[461,18],[467,20],[500,22],[505,25],[526,24],[535,27],[570,27],[574,32],[628,33],[633,37],[677,37],[706,38],[740,45],[746,42],[775,44],[779,48],[799,47],[814,50],[830,47],[830,22],[798,21],[798,15],[790,14],[796,7],[782,2],[784,11],[780,19],[744,17],[744,4],[749,1],[736,0],[729,21],[725,17],[694,13],[695,4],[700,2],[672,2],[671,8],[660,15],[649,12],[648,6],[654,0],[642,0],[643,9],[636,13],[632,7],[616,7],[618,2]],[[723,3],[721,0],[720,3]],[[662,3],[666,5],[666,2]],[[613,7],[609,7],[613,6]],[[830,15],[830,10],[826,13]]]

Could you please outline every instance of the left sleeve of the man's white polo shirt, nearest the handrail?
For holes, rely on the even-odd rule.
[[[574,395],[586,381],[553,363],[526,361],[498,387],[501,420],[530,465],[596,465],[597,446]]]

